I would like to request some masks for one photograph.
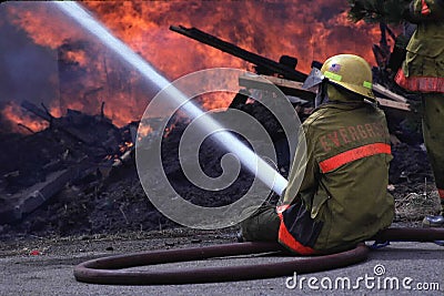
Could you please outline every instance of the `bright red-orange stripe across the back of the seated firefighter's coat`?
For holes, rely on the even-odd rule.
[[[321,171],[323,173],[327,173],[330,171],[333,171],[346,163],[375,155],[375,154],[391,154],[392,150],[389,144],[385,143],[374,143],[374,144],[369,144],[364,145],[361,147],[352,149],[349,151],[345,151],[343,153],[340,153],[333,157],[326,159],[325,161],[322,161],[320,163]]]

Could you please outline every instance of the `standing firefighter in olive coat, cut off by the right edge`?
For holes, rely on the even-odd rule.
[[[444,0],[414,0],[408,12],[417,29],[395,81],[422,95],[424,142],[444,210]],[[444,226],[443,212],[423,224]]]

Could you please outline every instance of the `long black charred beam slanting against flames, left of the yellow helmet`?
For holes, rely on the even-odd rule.
[[[306,74],[304,74],[295,69],[292,69],[291,67],[287,67],[285,64],[282,64],[282,63],[275,62],[273,60],[270,60],[268,58],[264,58],[260,54],[244,50],[233,43],[223,41],[212,34],[205,33],[199,29],[185,28],[182,25],[179,25],[179,27],[170,25],[170,30],[174,31],[176,33],[183,34],[188,38],[194,39],[201,43],[204,43],[204,44],[208,44],[215,49],[219,49],[223,52],[230,53],[230,54],[238,57],[244,61],[253,63],[260,68],[266,69],[273,73],[281,74],[282,76],[284,76],[289,80],[304,81],[306,78]]]

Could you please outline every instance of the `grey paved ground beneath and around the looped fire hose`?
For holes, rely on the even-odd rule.
[[[444,247],[432,243],[392,243],[389,247],[373,251],[370,259],[365,263],[330,272],[296,275],[296,284],[294,278],[280,277],[222,284],[103,286],[78,283],[72,273],[77,264],[107,255],[231,242],[234,242],[234,237],[230,233],[194,232],[190,235],[190,233],[181,233],[181,231],[171,231],[141,237],[134,237],[134,235],[114,237],[84,236],[63,239],[24,241],[13,245],[0,244],[0,295],[444,294]],[[41,254],[29,255],[32,249],[38,249]],[[228,266],[289,259],[293,258],[276,256],[222,258],[169,264],[157,268]],[[302,276],[306,279],[302,280]],[[349,279],[350,287],[346,282]],[[333,285],[330,290],[325,288],[329,282],[332,282]],[[312,287],[309,286],[309,283],[312,284]],[[398,289],[391,288],[391,285],[395,285],[395,283],[398,283]],[[334,288],[335,284],[337,288]],[[315,289],[315,287],[319,289]]]

